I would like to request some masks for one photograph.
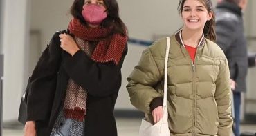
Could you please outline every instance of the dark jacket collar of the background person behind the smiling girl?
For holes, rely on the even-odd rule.
[[[235,14],[242,16],[243,13],[241,12],[241,8],[237,6],[236,3],[228,2],[228,1],[223,1],[221,3],[218,3],[216,8],[225,8],[230,10],[231,12],[234,12]]]

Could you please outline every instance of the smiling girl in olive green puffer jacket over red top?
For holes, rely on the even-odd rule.
[[[167,67],[167,110],[172,136],[230,136],[232,132],[228,60],[215,41],[212,1],[180,0],[183,27],[171,36]],[[131,104],[156,124],[163,117],[167,40],[143,51],[127,78]]]

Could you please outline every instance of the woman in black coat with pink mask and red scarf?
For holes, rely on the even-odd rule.
[[[127,54],[116,0],[75,0],[28,84],[25,135],[117,135],[113,109]]]

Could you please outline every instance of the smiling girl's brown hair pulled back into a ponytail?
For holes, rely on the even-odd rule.
[[[183,11],[183,6],[186,0],[180,0],[179,1],[179,6],[178,6],[178,11],[181,14]],[[209,21],[206,21],[205,26],[203,28],[203,34],[205,35],[206,38],[210,39],[211,41],[216,40],[216,32],[215,32],[215,14],[214,14],[214,9],[212,6],[212,1],[211,0],[198,0],[207,9],[208,12],[212,12],[212,19]]]

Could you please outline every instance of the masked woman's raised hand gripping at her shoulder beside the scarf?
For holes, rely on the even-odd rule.
[[[77,43],[71,35],[68,34],[60,34],[60,47],[68,52],[70,55],[75,55],[75,52],[79,50]]]

